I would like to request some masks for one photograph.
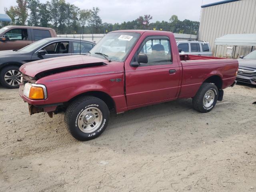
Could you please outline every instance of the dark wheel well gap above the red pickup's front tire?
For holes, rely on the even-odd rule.
[[[107,104],[109,110],[116,108],[115,102],[112,99],[112,97],[110,95],[106,94],[105,92],[101,92],[101,91],[89,91],[89,92],[82,93],[80,95],[75,96],[71,100],[69,100],[68,103],[70,103],[70,102],[74,101],[75,99],[82,97],[82,96],[94,96],[94,97],[97,97],[97,98],[103,100]]]

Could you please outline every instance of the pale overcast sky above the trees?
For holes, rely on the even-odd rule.
[[[99,7],[102,22],[113,24],[132,21],[145,14],[153,17],[151,22],[168,21],[172,15],[177,15],[179,20],[200,21],[201,5],[218,1],[220,0],[66,0],[80,9]],[[17,4],[16,0],[0,0],[0,5],[0,13],[4,13],[4,7]]]

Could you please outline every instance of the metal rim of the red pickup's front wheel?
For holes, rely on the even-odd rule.
[[[102,123],[102,112],[95,107],[89,107],[78,117],[78,128],[84,133],[96,131]]]

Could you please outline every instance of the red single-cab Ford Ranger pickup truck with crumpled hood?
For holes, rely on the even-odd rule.
[[[50,58],[20,67],[19,94],[30,114],[65,111],[64,121],[78,140],[98,137],[109,111],[193,98],[193,107],[209,112],[223,89],[236,84],[238,61],[179,55],[171,32],[110,32],[88,52]]]

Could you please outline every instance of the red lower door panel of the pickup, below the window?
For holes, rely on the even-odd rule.
[[[170,74],[169,70],[176,72]],[[141,66],[126,71],[127,106],[175,98],[179,79],[180,67],[177,64]]]

